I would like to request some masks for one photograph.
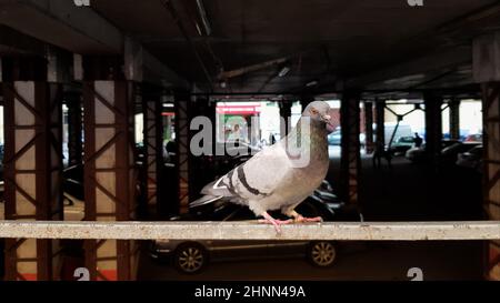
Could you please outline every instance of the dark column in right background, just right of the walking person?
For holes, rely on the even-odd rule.
[[[430,163],[439,169],[442,141],[442,97],[428,93],[423,97],[426,102],[426,151]]]

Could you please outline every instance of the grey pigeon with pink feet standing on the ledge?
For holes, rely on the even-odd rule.
[[[203,196],[190,206],[220,200],[244,205],[263,218],[259,222],[274,225],[278,233],[283,224],[321,222],[321,218],[302,216],[296,208],[320,186],[328,173],[330,120],[327,102],[310,103],[287,138],[206,185]],[[281,211],[293,219],[277,220],[269,211]]]

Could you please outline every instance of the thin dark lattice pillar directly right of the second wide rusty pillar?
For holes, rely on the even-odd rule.
[[[146,166],[146,194],[147,205],[158,206],[162,199],[163,172],[163,105],[160,100],[144,95],[142,101],[144,113],[144,166]]]

